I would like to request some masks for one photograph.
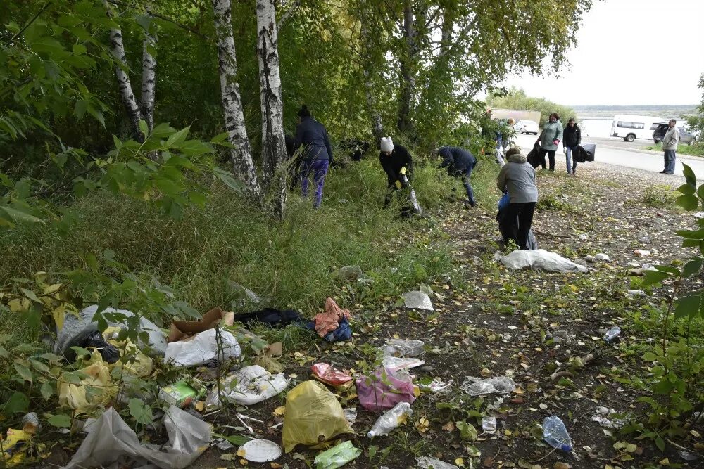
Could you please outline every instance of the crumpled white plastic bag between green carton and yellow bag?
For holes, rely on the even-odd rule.
[[[291,380],[284,378],[284,373],[272,375],[258,365],[244,366],[239,371],[222,379],[220,396],[218,386],[210,391],[206,404],[220,406],[220,399],[236,402],[243,406],[251,406],[280,394]]]

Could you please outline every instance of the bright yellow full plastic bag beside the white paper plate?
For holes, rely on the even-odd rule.
[[[284,413],[284,450],[296,444],[320,444],[341,433],[353,433],[342,406],[318,381],[308,380],[287,394]]]

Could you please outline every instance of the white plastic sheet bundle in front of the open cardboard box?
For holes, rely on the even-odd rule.
[[[166,347],[164,362],[172,362],[176,366],[196,366],[212,359],[224,361],[241,356],[242,349],[232,333],[220,330],[220,342],[222,350],[218,351],[217,330],[204,330],[191,340],[171,342]]]

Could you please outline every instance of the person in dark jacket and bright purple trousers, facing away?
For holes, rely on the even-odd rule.
[[[298,110],[298,125],[294,139],[294,151],[303,145],[301,154],[301,193],[308,197],[308,176],[313,174],[315,182],[315,202],[313,207],[322,203],[322,186],[325,174],[332,164],[332,148],[325,126],[310,116],[310,110],[305,104]]]

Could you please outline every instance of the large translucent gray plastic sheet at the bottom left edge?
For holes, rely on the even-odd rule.
[[[101,467],[117,463],[124,456],[139,464],[152,463],[158,468],[187,468],[210,443],[210,425],[171,406],[164,415],[169,435],[166,445],[141,444],[125,420],[111,407],[88,426],[83,440],[66,469]]]

